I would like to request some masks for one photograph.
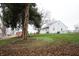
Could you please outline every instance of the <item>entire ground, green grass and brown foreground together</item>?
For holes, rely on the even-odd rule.
[[[35,34],[28,40],[16,37],[0,40],[0,55],[79,56],[79,33]]]

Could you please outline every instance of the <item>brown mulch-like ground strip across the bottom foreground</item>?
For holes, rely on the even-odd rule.
[[[79,45],[45,46],[25,48],[19,45],[0,47],[1,56],[79,56]]]

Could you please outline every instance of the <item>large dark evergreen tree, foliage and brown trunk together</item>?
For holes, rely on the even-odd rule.
[[[3,21],[7,27],[11,27],[12,29],[22,26],[23,39],[27,39],[28,34],[28,23],[34,24],[36,27],[39,27],[41,21],[41,14],[37,12],[37,8],[35,7],[35,3],[4,3],[4,12],[3,13]]]

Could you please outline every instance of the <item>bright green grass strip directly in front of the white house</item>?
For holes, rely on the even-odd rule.
[[[50,42],[56,42],[64,40],[68,43],[79,43],[79,33],[68,34],[36,34],[32,35],[33,38],[38,40],[47,40]]]

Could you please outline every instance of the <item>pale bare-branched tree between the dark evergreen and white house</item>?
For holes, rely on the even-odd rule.
[[[38,28],[38,32],[40,32],[41,27],[44,24],[47,24],[49,22],[49,20],[50,20],[50,12],[49,11],[42,9],[39,12],[41,14],[42,20],[40,21],[40,27]]]

